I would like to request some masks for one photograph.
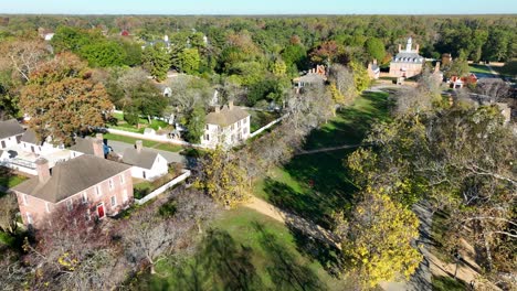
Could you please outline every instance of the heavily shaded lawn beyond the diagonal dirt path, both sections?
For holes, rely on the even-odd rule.
[[[388,120],[387,94],[369,94],[342,109],[307,138],[305,149],[357,144],[373,122]],[[254,194],[270,203],[329,227],[333,211],[348,207],[357,187],[345,166],[355,149],[294,157],[254,184]]]

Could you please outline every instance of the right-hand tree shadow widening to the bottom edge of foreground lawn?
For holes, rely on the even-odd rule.
[[[275,290],[325,290],[317,274],[310,268],[302,266],[274,234],[260,223],[255,222],[252,226],[260,234],[260,245],[271,259],[266,269]]]

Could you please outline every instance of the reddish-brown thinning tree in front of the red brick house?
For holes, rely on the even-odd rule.
[[[88,218],[87,209],[87,204],[71,211],[54,208],[46,223],[38,226],[36,244],[25,241],[25,262],[34,271],[33,288],[108,289],[123,280],[113,272],[117,250],[110,248],[109,233]]]

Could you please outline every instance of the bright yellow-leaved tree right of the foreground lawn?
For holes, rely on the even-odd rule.
[[[361,289],[408,279],[422,260],[411,246],[419,236],[418,217],[382,190],[368,187],[351,217],[346,219],[341,213],[336,220],[347,272],[358,279]]]

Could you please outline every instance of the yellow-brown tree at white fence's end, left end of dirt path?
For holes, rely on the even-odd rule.
[[[201,161],[199,186],[217,203],[233,208],[250,195],[250,183],[232,151],[221,147],[209,151]]]

